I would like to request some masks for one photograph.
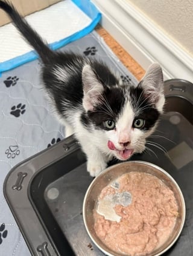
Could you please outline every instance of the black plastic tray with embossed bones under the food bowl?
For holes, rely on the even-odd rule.
[[[182,80],[178,83],[179,80],[165,82],[168,113],[149,139],[159,143],[162,150],[148,145],[151,151],[131,160],[159,165],[179,184],[185,197],[186,221],[179,240],[165,255],[192,256],[192,85]],[[184,117],[187,111],[189,121]],[[86,158],[73,136],[11,170],[4,194],[32,255],[104,255],[92,244],[83,224],[83,198],[90,182]]]

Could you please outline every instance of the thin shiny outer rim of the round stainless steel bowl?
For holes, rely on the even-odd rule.
[[[148,166],[151,166],[153,168],[156,168],[158,169],[160,172],[163,172],[166,176],[169,177],[169,179],[172,181],[172,183],[174,183],[174,185],[176,185],[176,188],[178,189],[178,192],[180,194],[180,198],[182,199],[182,212],[183,212],[183,215],[182,215],[182,223],[180,225],[180,229],[179,229],[179,233],[176,235],[175,239],[161,252],[159,252],[158,254],[154,254],[154,256],[159,256],[159,255],[162,255],[164,252],[168,251],[169,248],[171,248],[172,245],[174,245],[174,243],[176,243],[177,239],[179,238],[181,232],[182,232],[182,229],[183,229],[183,226],[185,224],[185,217],[186,217],[186,206],[185,206],[185,199],[183,197],[183,194],[182,194],[182,191],[179,187],[179,185],[177,184],[176,180],[174,180],[174,178],[168,174],[168,172],[166,172],[164,169],[160,168],[159,166],[157,165],[154,165],[154,163],[150,163],[150,162],[145,162],[145,161],[136,161],[136,160],[132,160],[132,161],[129,161],[129,162],[123,162],[123,163],[117,163],[116,165],[112,165],[106,169],[104,169],[104,171],[102,171],[89,185],[89,187],[87,188],[87,191],[86,191],[86,194],[84,195],[84,201],[83,201],[83,222],[84,222],[84,226],[86,228],[86,231],[87,231],[87,234],[89,234],[89,237],[90,239],[93,241],[93,243],[102,251],[104,252],[104,254],[108,255],[108,256],[114,256],[113,254],[110,254],[109,252],[107,252],[106,250],[104,250],[103,248],[101,248],[100,245],[98,245],[98,243],[96,243],[95,239],[93,239],[92,235],[90,234],[90,231],[89,229],[87,228],[87,225],[86,225],[86,209],[85,209],[85,205],[86,205],[86,199],[87,199],[87,194],[89,194],[89,191],[90,189],[92,188],[93,184],[95,184],[96,180],[100,179],[101,176],[104,175],[105,172],[109,172],[110,169],[112,168],[115,168],[116,166],[119,166],[119,165],[127,165],[128,163],[141,163],[141,164],[144,164],[144,165],[148,165]]]

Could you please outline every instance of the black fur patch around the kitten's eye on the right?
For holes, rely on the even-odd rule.
[[[132,99],[131,103],[133,105],[133,110],[139,110],[134,119],[144,119],[145,125],[141,128],[141,130],[150,130],[160,116],[159,111],[157,111],[150,100],[148,100],[148,97],[145,97],[144,91],[139,86],[136,88],[131,88],[130,97]]]

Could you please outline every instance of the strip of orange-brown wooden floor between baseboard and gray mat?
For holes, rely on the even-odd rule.
[[[136,77],[136,79],[140,80],[142,76],[144,76],[144,69],[130,56],[130,54],[125,51],[115,39],[110,36],[107,31],[101,27],[101,25],[97,25],[95,28],[96,32],[100,34],[100,36],[104,39],[109,48],[112,49],[113,53],[120,59],[120,61],[128,68],[128,70]]]

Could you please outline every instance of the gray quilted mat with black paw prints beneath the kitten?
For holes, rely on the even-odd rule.
[[[74,51],[103,59],[121,79],[137,80],[93,31],[60,51]],[[65,138],[65,127],[52,115],[42,90],[39,60],[28,62],[0,77],[0,255],[28,256],[22,237],[3,195],[5,177],[13,166]],[[33,227],[31,227],[33,228]]]

